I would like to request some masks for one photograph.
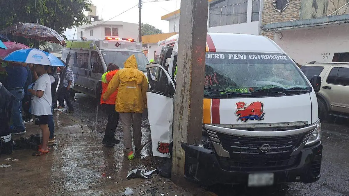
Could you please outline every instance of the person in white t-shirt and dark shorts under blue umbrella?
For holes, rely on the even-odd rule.
[[[49,117],[52,115],[52,95],[51,95],[51,79],[47,74],[49,66],[35,65],[34,70],[39,78],[34,83],[34,89],[28,89],[32,94],[31,113],[35,116],[35,125],[40,126],[42,130],[42,144],[39,146],[38,152],[33,156],[41,156],[49,153],[47,146],[50,137]]]

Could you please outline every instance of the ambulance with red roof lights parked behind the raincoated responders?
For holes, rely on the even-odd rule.
[[[138,69],[146,74],[148,59],[143,53],[142,44],[135,39],[105,37],[105,39],[82,39],[70,41],[62,51],[62,60],[66,61],[70,53],[69,65],[74,73],[73,91],[99,98],[102,94],[102,74],[107,65],[114,63],[124,67],[126,59],[134,54]]]

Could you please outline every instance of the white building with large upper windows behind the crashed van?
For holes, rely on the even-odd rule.
[[[208,32],[259,35],[262,0],[209,0]],[[180,10],[161,17],[169,32],[179,32]]]

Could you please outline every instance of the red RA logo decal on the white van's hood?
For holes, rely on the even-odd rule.
[[[245,107],[245,102],[236,103],[237,111],[235,114],[239,117],[237,121],[241,120],[247,122],[248,120],[264,120],[264,104],[260,101],[255,101]]]

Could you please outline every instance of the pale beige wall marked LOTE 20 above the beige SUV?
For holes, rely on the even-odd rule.
[[[300,64],[331,62],[335,52],[349,52],[349,25],[294,29],[275,33],[275,42]]]

